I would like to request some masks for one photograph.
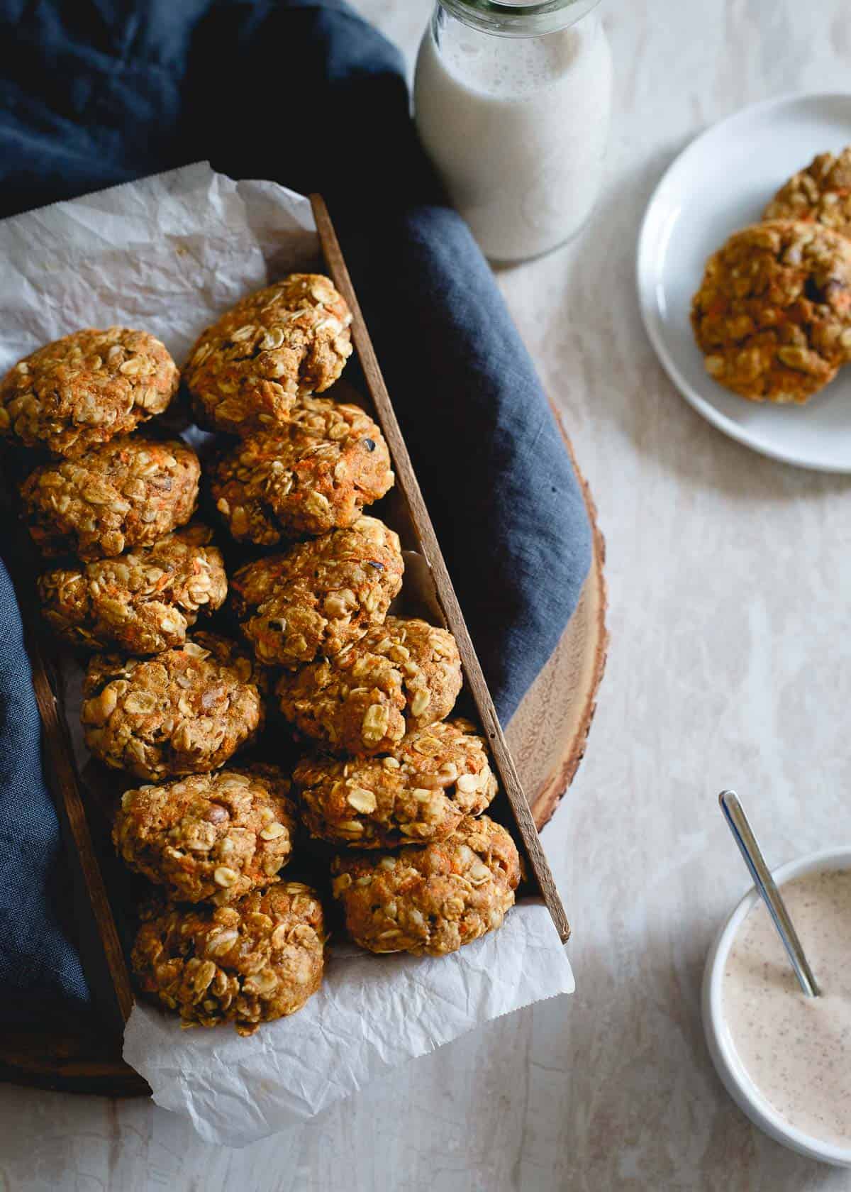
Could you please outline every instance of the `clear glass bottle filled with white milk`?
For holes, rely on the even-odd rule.
[[[573,236],[600,191],[611,55],[597,0],[439,0],[414,113],[449,198],[492,261]]]

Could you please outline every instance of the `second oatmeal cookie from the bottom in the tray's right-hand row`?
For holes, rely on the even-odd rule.
[[[415,728],[384,757],[304,758],[292,777],[310,833],[352,849],[442,840],[497,793],[485,743],[460,719]]]

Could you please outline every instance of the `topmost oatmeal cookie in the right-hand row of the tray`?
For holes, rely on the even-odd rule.
[[[184,368],[199,420],[246,435],[286,422],[352,354],[352,315],[329,278],[293,273],[249,294],[200,336]]]

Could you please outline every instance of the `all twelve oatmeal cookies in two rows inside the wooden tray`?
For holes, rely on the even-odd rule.
[[[476,939],[501,925],[521,876],[509,833],[482,815],[497,790],[484,740],[446,719],[461,689],[454,639],[389,615],[399,539],[364,513],[393,484],[381,432],[316,396],[350,355],[349,323],[328,278],[293,274],[192,349],[186,390],[222,436],[206,479],[224,554],[192,521],[197,454],[137,429],[178,391],[162,343],[79,331],[0,381],[0,433],[44,457],[21,488],[51,559],[44,616],[93,652],[86,744],[144,783],[113,826],[120,857],[160,892],[133,969],[184,1025],[251,1033],[319,987],[322,902],[281,879],[299,825],[336,848],[334,896],[352,938],[377,952]],[[242,641],[195,628],[229,591]],[[279,708],[312,750],[294,771],[231,760],[262,733],[272,691],[271,716]]]

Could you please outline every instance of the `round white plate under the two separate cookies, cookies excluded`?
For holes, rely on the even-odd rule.
[[[802,406],[747,402],[703,368],[689,323],[706,259],[816,153],[851,144],[851,94],[790,95],[746,107],[679,154],[639,235],[638,291],[647,334],[690,405],[739,442],[824,472],[851,472],[851,365]]]

